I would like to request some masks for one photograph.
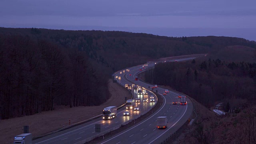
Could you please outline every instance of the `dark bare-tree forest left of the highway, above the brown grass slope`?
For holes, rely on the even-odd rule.
[[[34,31],[33,31],[34,32]],[[0,35],[0,119],[94,106],[109,98],[107,78],[87,54],[28,36]]]

